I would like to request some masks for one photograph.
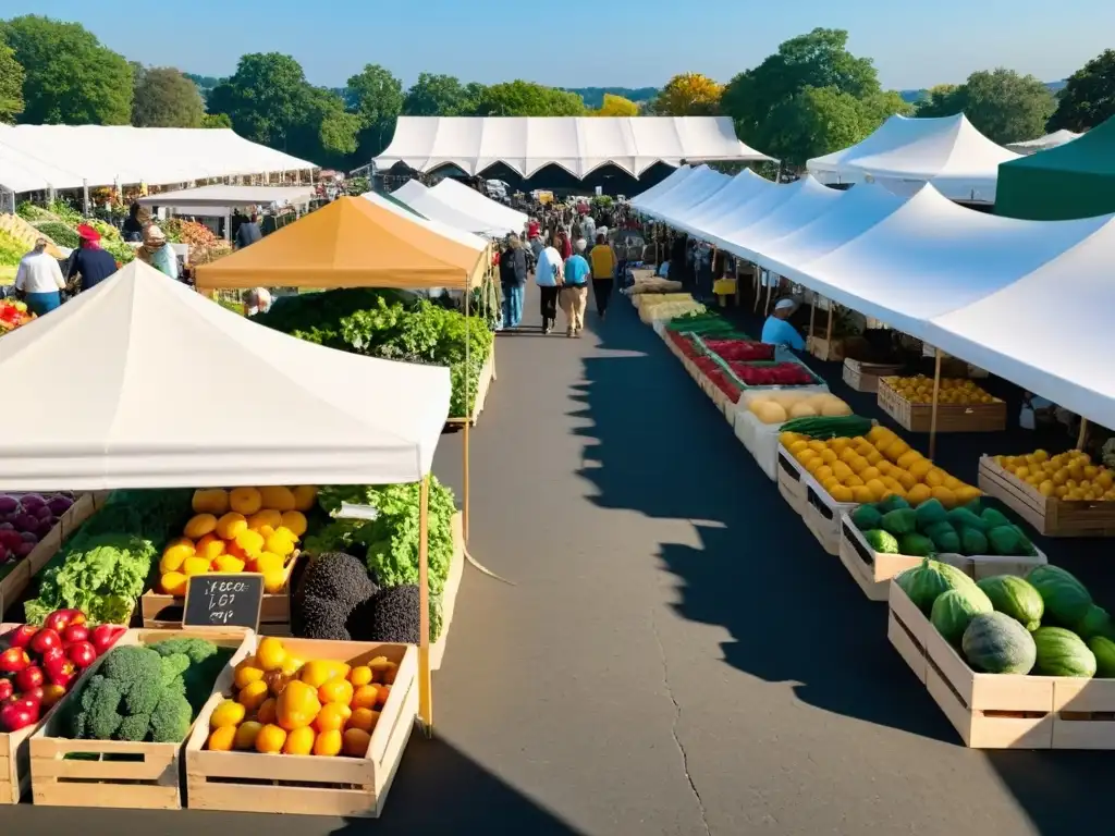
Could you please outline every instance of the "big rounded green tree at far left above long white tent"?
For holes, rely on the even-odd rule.
[[[127,125],[132,120],[132,68],[80,23],[25,14],[0,22],[0,39],[26,74],[21,121]]]

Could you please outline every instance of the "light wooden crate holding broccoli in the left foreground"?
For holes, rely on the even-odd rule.
[[[129,630],[116,647],[155,644],[167,639],[209,639],[234,654],[217,677],[214,692],[232,687],[233,667],[254,649],[254,633],[242,629]],[[104,657],[101,657],[103,659]],[[89,671],[96,672],[100,660]],[[58,706],[74,699],[70,691]],[[212,710],[220,700],[210,700]],[[202,715],[205,721],[202,723]],[[60,737],[64,712],[55,713],[31,736],[31,793],[48,807],[122,807],[176,810],[183,807],[181,778],[185,741],[132,743],[118,740],[69,740]],[[209,728],[203,710],[194,727]],[[188,735],[187,735],[188,739]],[[79,757],[80,759],[74,759]]]

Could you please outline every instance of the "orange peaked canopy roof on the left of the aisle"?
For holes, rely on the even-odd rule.
[[[378,198],[378,200],[372,200]],[[196,269],[200,288],[467,288],[487,266],[477,247],[438,234],[378,195],[341,197],[251,246]],[[467,240],[467,239],[466,239]]]

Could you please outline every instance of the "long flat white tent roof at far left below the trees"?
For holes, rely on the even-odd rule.
[[[313,168],[230,129],[0,125],[0,187],[17,194]]]

